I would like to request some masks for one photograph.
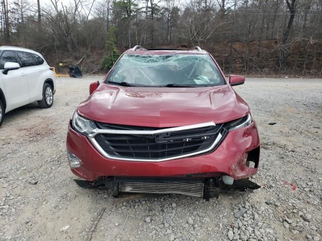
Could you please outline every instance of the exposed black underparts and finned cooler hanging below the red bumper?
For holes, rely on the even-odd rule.
[[[245,193],[260,188],[249,179],[234,180],[232,185],[224,184],[221,177],[214,178],[129,178],[101,177],[95,182],[74,180],[83,188],[112,190],[113,197],[122,197],[134,193],[148,194],[184,194],[188,196],[218,198],[219,193]]]

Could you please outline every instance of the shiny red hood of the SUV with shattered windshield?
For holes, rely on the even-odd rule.
[[[166,128],[228,122],[246,115],[249,107],[230,85],[169,88],[100,84],[77,111],[98,122]]]

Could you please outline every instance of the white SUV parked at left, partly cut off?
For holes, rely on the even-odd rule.
[[[49,108],[55,75],[41,54],[24,48],[0,47],[0,126],[8,111],[38,101]]]

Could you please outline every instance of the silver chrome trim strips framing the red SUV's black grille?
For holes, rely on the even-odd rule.
[[[122,161],[135,161],[135,162],[163,162],[163,161],[169,161],[169,160],[180,159],[180,158],[185,158],[185,157],[191,157],[191,156],[195,156],[195,155],[209,152],[220,142],[222,135],[220,133],[218,133],[218,136],[216,137],[213,144],[205,150],[194,152],[194,153],[189,153],[189,154],[184,154],[184,155],[178,155],[175,157],[160,158],[160,159],[137,159],[137,158],[124,158],[124,157],[110,156],[97,143],[97,141],[95,140],[95,136],[98,134],[154,135],[154,134],[160,134],[160,133],[184,131],[184,130],[191,130],[191,129],[197,129],[197,128],[203,128],[203,127],[215,127],[215,126],[216,125],[214,124],[214,122],[207,122],[207,123],[195,124],[195,125],[190,125],[190,126],[166,128],[166,129],[160,129],[160,130],[154,130],[154,131],[132,131],[132,130],[127,131],[127,130],[108,130],[108,129],[98,129],[97,128],[89,134],[88,138],[91,141],[91,143],[96,147],[96,149],[104,157],[109,158],[109,159],[122,160]]]

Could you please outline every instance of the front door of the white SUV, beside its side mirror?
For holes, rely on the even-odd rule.
[[[6,62],[19,63],[18,57],[12,50],[5,50],[0,57],[0,69],[4,69]],[[4,81],[7,95],[6,112],[29,103],[29,86],[26,71],[23,68],[10,70],[7,74],[0,72]]]

